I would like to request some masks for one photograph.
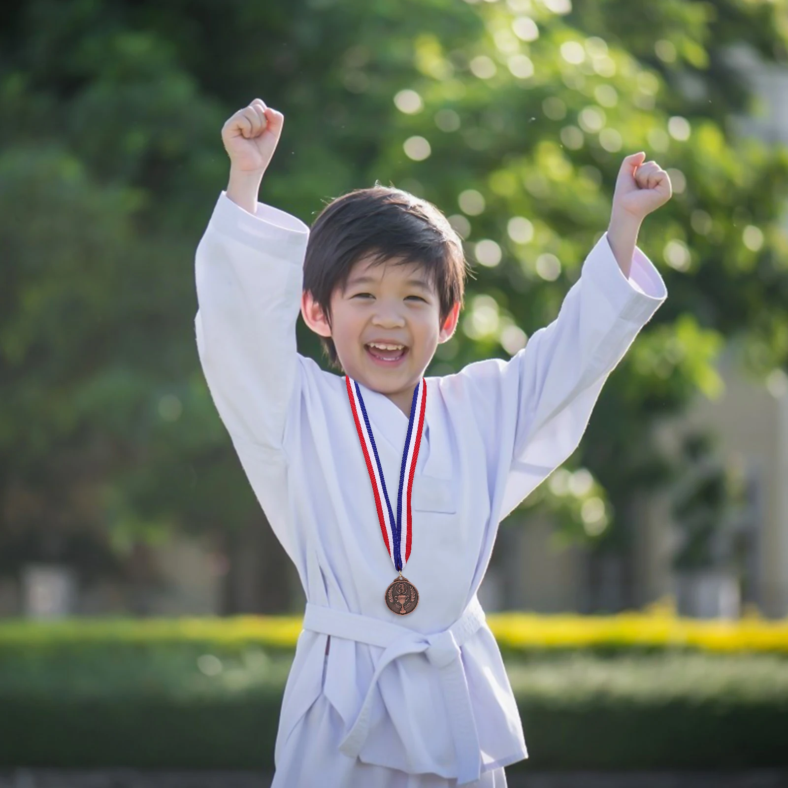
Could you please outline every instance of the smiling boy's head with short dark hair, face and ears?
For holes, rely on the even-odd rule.
[[[462,244],[434,206],[385,187],[334,200],[310,239],[304,321],[334,366],[409,416],[414,386],[457,325]]]

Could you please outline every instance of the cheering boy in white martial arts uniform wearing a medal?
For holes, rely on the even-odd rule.
[[[574,451],[667,298],[635,243],[670,181],[625,158],[558,318],[508,362],[425,380],[463,300],[459,237],[392,188],[311,230],[258,203],[283,122],[255,99],[225,123],[229,184],[195,262],[206,381],[307,595],[273,786],[500,788],[527,752],[476,592],[498,523]],[[296,351],[299,307],[344,377]]]

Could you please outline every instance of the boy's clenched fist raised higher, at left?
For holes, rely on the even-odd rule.
[[[262,99],[238,110],[221,127],[221,141],[238,173],[262,176],[277,148],[284,115],[266,107]]]

